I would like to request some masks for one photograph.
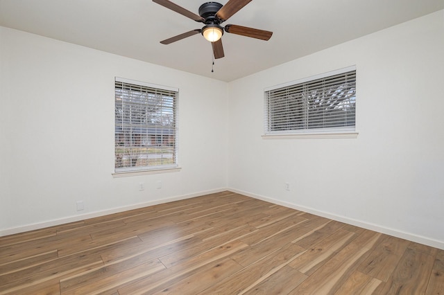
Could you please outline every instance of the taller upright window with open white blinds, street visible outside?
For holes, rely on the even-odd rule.
[[[177,167],[178,89],[116,78],[115,172]]]

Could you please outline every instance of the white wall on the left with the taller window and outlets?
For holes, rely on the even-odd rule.
[[[2,27],[0,53],[0,235],[226,188],[225,82]],[[112,177],[115,76],[179,88],[180,172]]]

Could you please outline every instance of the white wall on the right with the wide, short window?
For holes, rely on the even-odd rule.
[[[354,64],[357,138],[261,138],[265,87]],[[443,82],[443,11],[231,82],[228,186],[444,249]]]

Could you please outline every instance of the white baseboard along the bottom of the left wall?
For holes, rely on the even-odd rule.
[[[0,237],[3,237],[4,235],[13,235],[15,233],[24,233],[25,231],[34,231],[36,229],[44,229],[49,226],[58,226],[60,224],[66,224],[69,222],[78,222],[80,220],[87,220],[89,218],[100,217],[103,215],[109,215],[109,214],[119,213],[119,212],[123,212],[123,211],[129,211],[129,210],[143,208],[143,207],[147,207],[147,206],[153,206],[153,205],[157,205],[157,204],[179,201],[181,199],[190,199],[192,197],[199,197],[201,195],[209,195],[212,193],[221,193],[225,190],[227,190],[227,188],[219,188],[219,189],[215,189],[215,190],[205,190],[205,191],[201,191],[198,193],[192,193],[192,194],[188,194],[188,195],[169,197],[167,199],[157,199],[157,200],[150,201],[150,202],[144,202],[144,203],[133,204],[133,205],[129,205],[129,206],[112,208],[112,209],[107,209],[107,210],[103,210],[103,211],[95,211],[92,213],[85,213],[83,215],[64,217],[64,218],[60,218],[57,220],[48,220],[45,222],[38,222],[35,224],[26,224],[24,226],[17,226],[17,227],[11,228],[11,229],[2,229],[2,230],[0,230]]]

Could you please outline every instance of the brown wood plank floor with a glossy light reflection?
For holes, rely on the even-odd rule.
[[[0,294],[444,294],[444,251],[223,192],[0,238]]]

